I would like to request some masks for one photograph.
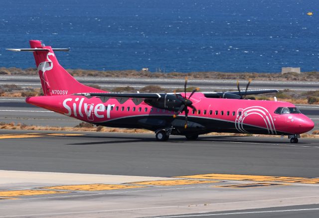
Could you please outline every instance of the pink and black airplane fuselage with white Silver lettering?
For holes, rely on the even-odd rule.
[[[208,132],[291,135],[314,127],[304,114],[274,113],[278,107],[295,107],[288,102],[206,98],[202,93],[195,93],[190,100],[198,112],[188,108],[186,129],[185,112],[174,119],[173,111],[152,107],[143,99],[53,95],[28,97],[26,102],[100,126],[152,131],[173,126],[176,131],[172,134],[177,135]]]

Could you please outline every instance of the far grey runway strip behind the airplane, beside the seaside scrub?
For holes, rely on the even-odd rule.
[[[162,88],[176,89],[183,88],[183,79],[162,79],[162,78],[122,78],[122,77],[75,77],[79,82],[85,84],[96,84],[104,89],[112,90],[118,86],[131,86],[136,89],[143,88],[147,85],[159,85]],[[201,91],[214,90],[237,90],[237,80],[214,80],[214,79],[190,79],[188,86],[199,87]],[[241,88],[245,88],[247,81],[239,81]],[[38,76],[0,76],[1,84],[16,84],[22,87],[41,87]],[[291,89],[296,91],[318,90],[319,82],[306,81],[258,81],[254,80],[249,86],[251,89]]]

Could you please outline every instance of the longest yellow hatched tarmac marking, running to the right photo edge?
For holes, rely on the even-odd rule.
[[[181,176],[175,178],[319,184],[319,178],[253,176],[236,174],[201,174],[192,176]]]

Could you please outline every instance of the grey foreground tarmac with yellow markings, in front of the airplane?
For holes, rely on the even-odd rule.
[[[1,130],[0,218],[316,217],[319,139],[300,141]]]

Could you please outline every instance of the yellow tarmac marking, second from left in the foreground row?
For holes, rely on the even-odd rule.
[[[103,191],[103,190],[116,190],[116,189],[135,189],[135,188],[146,188],[146,186],[87,184],[87,185],[50,186],[50,187],[41,187],[39,189],[70,190],[70,191]]]

